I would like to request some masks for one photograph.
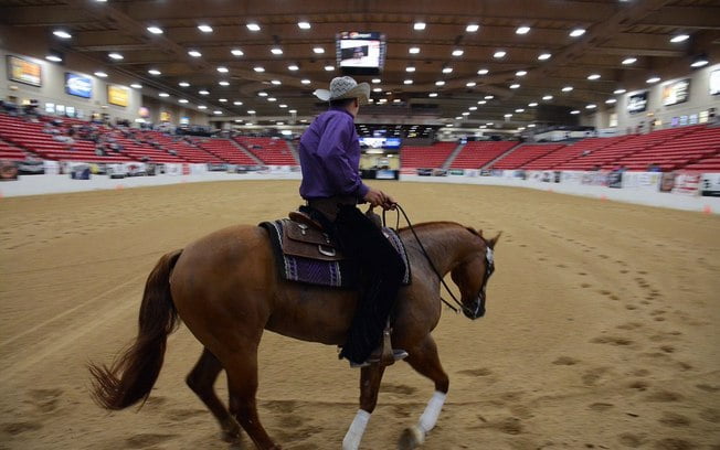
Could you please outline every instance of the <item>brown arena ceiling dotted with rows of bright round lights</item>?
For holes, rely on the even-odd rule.
[[[159,89],[166,101],[245,120],[316,114],[322,105],[311,92],[339,74],[341,31],[387,36],[383,72],[357,77],[380,81],[366,115],[474,126],[530,124],[548,105],[564,107],[560,114],[612,108],[617,89],[686,75],[698,55],[720,55],[718,0],[0,0],[0,22],[133,75],[145,95]]]

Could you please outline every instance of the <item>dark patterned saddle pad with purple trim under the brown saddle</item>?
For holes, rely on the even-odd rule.
[[[275,262],[284,280],[345,289],[357,289],[360,286],[360,268],[351,259],[327,261],[283,253],[283,228],[289,219],[284,218],[260,224],[269,234]],[[382,232],[402,257],[405,265],[402,283],[407,286],[411,272],[405,246],[393,229],[382,228]]]

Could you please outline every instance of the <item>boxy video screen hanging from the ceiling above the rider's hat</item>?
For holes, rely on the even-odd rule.
[[[346,75],[378,75],[385,64],[385,35],[343,31],[336,39],[337,65]]]

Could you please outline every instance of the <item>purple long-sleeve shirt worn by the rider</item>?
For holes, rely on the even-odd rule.
[[[305,130],[298,150],[303,199],[326,199],[335,195],[366,196],[369,188],[359,173],[360,142],[352,115],[345,109],[330,109],[319,115]]]

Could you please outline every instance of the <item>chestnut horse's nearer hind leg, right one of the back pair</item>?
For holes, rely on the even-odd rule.
[[[230,413],[261,450],[279,450],[260,422],[257,416],[257,346],[237,349],[223,360],[230,389]]]

